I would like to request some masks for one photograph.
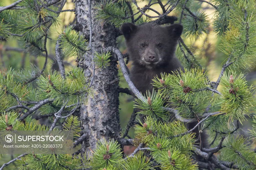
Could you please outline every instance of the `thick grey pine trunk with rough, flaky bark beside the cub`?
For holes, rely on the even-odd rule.
[[[96,3],[101,1],[91,0],[91,21],[92,21],[92,48],[101,52],[102,48],[115,46],[116,32],[113,26],[106,21],[96,19]],[[76,1],[77,23],[82,25],[81,32],[89,37],[89,4],[88,0]],[[88,40],[89,41],[89,40]],[[79,61],[79,67],[85,69],[85,76],[93,74],[91,64],[91,52],[87,52]],[[82,131],[87,134],[87,139],[82,143],[82,152],[86,157],[91,156],[96,143],[100,139],[109,140],[119,138],[119,99],[118,99],[118,69],[117,60],[113,55],[110,66],[102,69],[95,69],[95,77],[91,86],[93,96],[89,96],[88,102],[81,106]]]

